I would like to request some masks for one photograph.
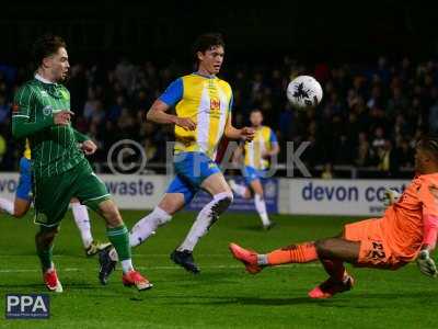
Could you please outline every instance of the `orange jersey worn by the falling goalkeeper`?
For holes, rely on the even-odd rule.
[[[381,218],[385,243],[395,256],[405,261],[416,258],[426,215],[438,216],[438,173],[416,175]]]

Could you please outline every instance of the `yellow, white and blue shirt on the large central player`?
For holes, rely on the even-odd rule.
[[[175,126],[174,152],[200,151],[215,158],[232,107],[230,84],[216,76],[192,73],[173,81],[160,100],[176,105],[178,117],[196,123],[193,132]]]

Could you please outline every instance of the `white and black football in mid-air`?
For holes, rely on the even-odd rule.
[[[287,98],[298,110],[314,107],[322,100],[322,88],[315,78],[299,76],[290,81],[287,88]]]

